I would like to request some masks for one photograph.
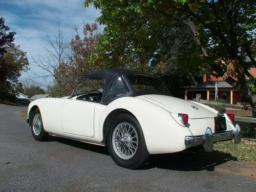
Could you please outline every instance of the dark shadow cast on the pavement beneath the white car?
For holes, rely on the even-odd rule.
[[[62,144],[81,148],[102,155],[110,155],[106,146],[99,146],[61,137],[49,137],[51,141],[57,141]],[[211,153],[205,153],[201,150],[187,150],[174,154],[152,155],[149,162],[140,168],[140,170],[162,168],[179,171],[214,171],[215,166],[226,163],[228,161],[238,161],[231,154],[220,152],[217,150]]]

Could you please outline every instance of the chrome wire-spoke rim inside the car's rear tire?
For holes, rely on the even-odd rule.
[[[113,131],[112,143],[121,159],[131,159],[138,148],[138,134],[134,126],[127,122],[119,123]]]

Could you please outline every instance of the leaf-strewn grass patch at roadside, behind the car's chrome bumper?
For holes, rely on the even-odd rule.
[[[233,141],[218,142],[214,144],[214,149],[230,154],[238,160],[256,162],[256,141],[242,139],[239,144]]]

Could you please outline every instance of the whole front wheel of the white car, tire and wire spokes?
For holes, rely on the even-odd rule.
[[[37,141],[46,141],[49,134],[44,129],[41,113],[38,108],[32,112],[31,121],[31,131],[34,139]]]

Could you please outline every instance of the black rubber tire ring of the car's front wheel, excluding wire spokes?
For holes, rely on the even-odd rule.
[[[35,140],[37,140],[37,141],[47,141],[49,134],[45,131],[44,125],[43,125],[43,123],[42,123],[42,120],[41,120],[41,129],[40,129],[39,134],[36,134],[35,131],[34,131],[34,129],[33,129],[34,117],[35,117],[36,115],[38,116],[38,114],[39,114],[39,116],[40,116],[40,119],[42,119],[42,118],[41,118],[41,113],[40,113],[39,109],[36,108],[36,109],[32,112],[32,115],[31,115],[31,118],[30,118],[30,121],[31,121],[31,123],[30,123],[30,124],[31,124],[31,132],[32,132],[32,135],[33,135],[33,137],[34,137]]]

